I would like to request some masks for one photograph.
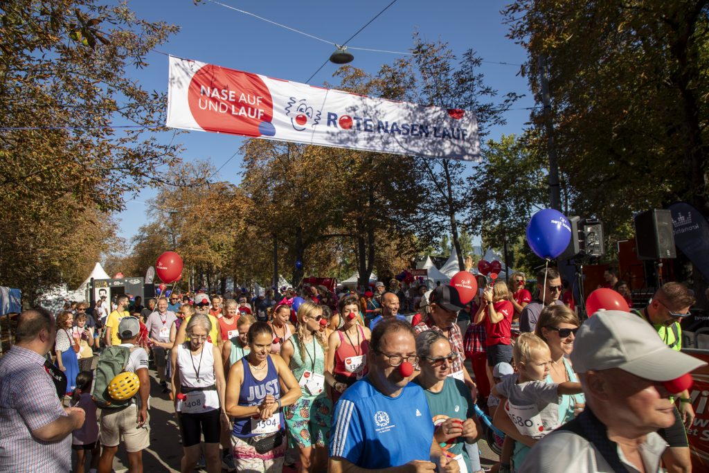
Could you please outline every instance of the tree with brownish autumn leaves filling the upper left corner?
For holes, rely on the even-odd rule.
[[[2,284],[31,301],[69,280],[73,255],[86,251],[92,266],[110,249],[110,221],[100,214],[123,208],[125,192],[152,184],[155,170],[174,160],[177,147],[155,135],[164,96],[125,69],[145,65],[145,54],[176,30],[135,18],[124,4],[2,2],[0,232],[23,235],[0,241]]]

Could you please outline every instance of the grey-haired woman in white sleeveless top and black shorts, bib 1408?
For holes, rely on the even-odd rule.
[[[229,423],[220,352],[207,341],[212,322],[206,315],[191,316],[185,328],[189,341],[177,345],[170,354],[174,373],[172,394],[184,447],[182,473],[196,467],[202,451],[207,471],[219,473],[220,433]],[[203,449],[201,435],[204,435]]]

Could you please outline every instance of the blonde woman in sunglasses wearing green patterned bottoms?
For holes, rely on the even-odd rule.
[[[298,380],[303,396],[286,408],[286,424],[300,449],[300,473],[320,472],[327,467],[328,439],[333,402],[325,391],[325,338],[323,308],[312,302],[298,307],[298,328],[281,348],[281,357]]]

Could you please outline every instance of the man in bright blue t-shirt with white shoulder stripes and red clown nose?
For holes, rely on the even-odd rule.
[[[420,386],[409,383],[405,368],[415,365],[415,333],[397,318],[379,323],[369,341],[369,374],[350,386],[335,406],[328,471],[350,467],[382,469],[408,465],[417,472],[459,472],[433,440],[428,402]],[[411,368],[411,366],[408,366]]]

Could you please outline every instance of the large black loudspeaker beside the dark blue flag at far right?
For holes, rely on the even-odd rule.
[[[635,247],[639,260],[676,258],[672,213],[652,208],[635,216]]]

